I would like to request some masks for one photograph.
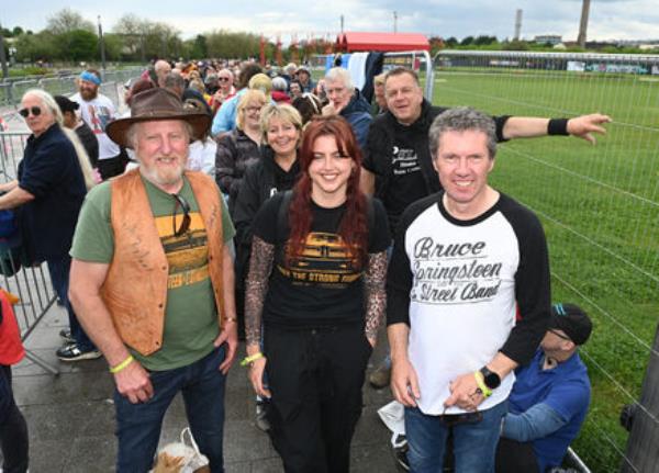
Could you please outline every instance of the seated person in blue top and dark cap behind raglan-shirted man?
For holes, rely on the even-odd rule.
[[[496,454],[498,472],[560,466],[585,419],[591,386],[578,347],[592,330],[574,304],[556,304],[533,361],[517,369]]]

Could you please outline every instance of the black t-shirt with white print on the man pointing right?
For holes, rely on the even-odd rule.
[[[421,172],[418,151],[415,148],[415,144],[426,142],[416,139],[415,133],[411,133],[409,126],[401,124],[394,126],[391,183],[383,202],[392,229],[395,229],[407,205],[428,194]]]

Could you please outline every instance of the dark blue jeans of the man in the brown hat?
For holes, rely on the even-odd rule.
[[[131,404],[114,390],[119,473],[144,473],[153,466],[163,417],[179,392],[183,396],[192,436],[209,458],[211,472],[224,472],[222,439],[226,376],[217,370],[224,357],[222,346],[187,367],[149,372],[154,397],[146,403]]]

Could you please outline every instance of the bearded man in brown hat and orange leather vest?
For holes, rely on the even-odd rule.
[[[236,351],[234,235],[214,181],[185,171],[210,116],[149,89],[108,125],[139,167],[87,195],[71,256],[70,296],[116,388],[119,472],[152,468],[177,393],[211,471],[223,471],[224,386]]]

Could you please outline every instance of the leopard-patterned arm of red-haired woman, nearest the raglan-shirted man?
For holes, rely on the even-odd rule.
[[[364,277],[364,295],[366,297],[366,338],[373,347],[378,337],[378,327],[380,327],[387,309],[386,280],[387,251],[369,254],[368,268]]]

